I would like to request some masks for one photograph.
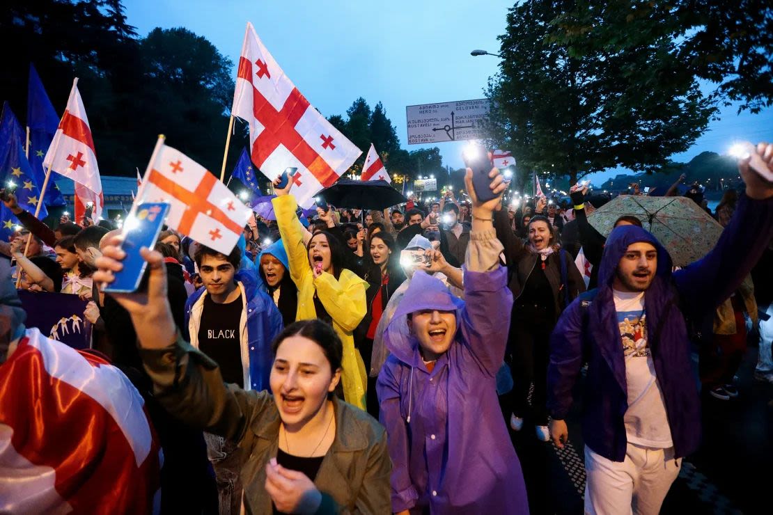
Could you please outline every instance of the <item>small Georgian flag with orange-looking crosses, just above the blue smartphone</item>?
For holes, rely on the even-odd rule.
[[[159,138],[135,205],[169,202],[166,225],[197,242],[230,254],[252,216],[212,172]]]

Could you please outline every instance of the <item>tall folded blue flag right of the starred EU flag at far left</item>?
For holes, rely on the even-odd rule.
[[[29,127],[29,165],[39,185],[43,185],[46,170],[43,168],[43,157],[59,127],[59,117],[53,109],[51,100],[46,95],[43,82],[32,63],[29,63],[29,94],[27,95],[27,127]],[[46,188],[46,205],[66,205],[64,197],[54,181],[49,181]]]

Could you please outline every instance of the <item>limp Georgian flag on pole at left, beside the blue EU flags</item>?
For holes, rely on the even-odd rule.
[[[80,100],[77,78],[70,90],[70,99],[64,110],[59,128],[43,158],[43,166],[75,181],[75,219],[80,221],[87,203],[94,205],[91,218],[97,220],[104,208],[102,181],[97,167],[94,139],[83,100]]]

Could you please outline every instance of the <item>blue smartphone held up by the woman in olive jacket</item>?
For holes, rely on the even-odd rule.
[[[121,249],[126,252],[120,272],[115,273],[115,280],[104,288],[110,293],[131,293],[138,290],[145,267],[148,263],[140,256],[140,249],[152,249],[161,233],[162,226],[169,213],[169,204],[148,202],[137,206],[135,220],[128,219],[124,223],[124,242]]]

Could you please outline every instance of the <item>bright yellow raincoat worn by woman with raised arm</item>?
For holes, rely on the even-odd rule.
[[[344,400],[358,408],[365,409],[367,378],[363,357],[354,348],[352,333],[367,312],[365,290],[367,283],[342,269],[338,280],[332,274],[323,272],[316,279],[308,263],[308,251],[303,242],[303,226],[295,210],[298,205],[292,195],[283,195],[271,201],[277,216],[279,234],[284,250],[288,253],[290,277],[298,287],[298,311],[295,320],[316,318],[314,294],[333,321],[333,329],[343,344],[342,374]]]

